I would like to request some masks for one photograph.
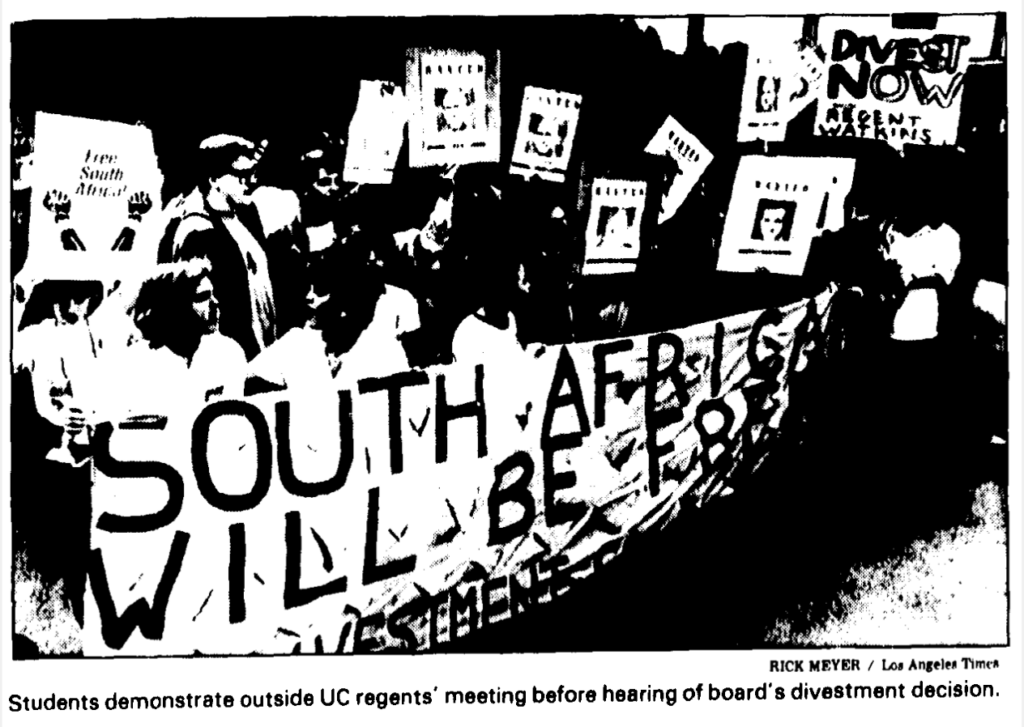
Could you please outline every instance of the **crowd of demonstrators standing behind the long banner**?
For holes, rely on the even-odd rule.
[[[656,50],[630,52],[660,58],[662,49]],[[846,225],[814,242],[801,277],[716,273],[737,160],[764,152],[760,144],[748,151],[735,144],[735,109],[729,104],[738,104],[743,58],[733,55],[694,44],[685,58],[662,63],[664,79],[656,73],[642,76],[651,91],[644,96],[646,105],[605,101],[604,113],[593,115],[605,126],[581,127],[582,136],[592,134],[586,169],[574,153],[564,183],[509,174],[507,161],[427,169],[398,165],[394,184],[349,183],[343,178],[348,139],[335,132],[267,134],[263,140],[242,131],[196,143],[188,160],[174,160],[179,182],[174,191],[180,195],[162,205],[128,200],[129,217],[148,213],[142,209],[148,204],[163,214],[151,270],[119,281],[81,280],[81,270],[37,282],[14,277],[11,391],[18,429],[11,481],[15,553],[28,559],[23,571],[41,574],[39,582],[69,600],[82,623],[81,562],[90,525],[84,465],[91,433],[101,422],[159,415],[181,399],[202,403],[267,390],[315,396],[370,376],[484,357],[515,371],[516,356],[531,343],[683,328],[794,302],[828,285],[844,293],[843,301],[853,301],[833,316],[845,349],[854,354],[851,372],[866,369],[863,362],[871,357],[896,360],[903,355],[896,351],[908,350],[904,343],[914,351],[904,356],[912,361],[906,364],[906,380],[922,367],[945,371],[935,362],[953,360],[943,358],[949,352],[964,361],[977,359],[980,351],[995,356],[985,371],[1000,366],[1005,371],[1006,288],[1000,265],[976,262],[977,251],[998,247],[979,239],[987,228],[970,218],[977,205],[968,198],[939,199],[931,189],[916,196],[896,190],[893,179],[910,176],[905,171],[910,167],[901,166],[885,144],[815,139],[809,128],[801,136],[795,129],[803,121],[795,120],[791,136],[796,143],[806,137],[810,145],[773,151],[858,160]],[[614,65],[602,57],[595,56],[594,68]],[[593,75],[595,89],[612,77]],[[696,90],[678,98],[653,92],[677,78]],[[556,87],[556,81],[549,85]],[[731,101],[722,100],[725,87],[735,90]],[[762,89],[759,104],[774,103],[773,93]],[[715,102],[694,103],[694,97]],[[595,101],[601,102],[597,93],[585,93],[585,103]],[[593,108],[587,106],[588,113]],[[668,158],[642,149],[668,114],[713,148],[715,161],[679,211],[665,219],[656,201],[672,187],[677,169]],[[731,127],[720,123],[724,118],[732,120]],[[238,131],[223,127],[215,130]],[[180,146],[162,146],[169,136],[155,135],[158,154]],[[718,137],[728,137],[728,144]],[[31,139],[15,134],[17,144],[31,146]],[[937,158],[938,149],[927,154]],[[865,164],[872,155],[877,162]],[[168,156],[161,158],[162,166]],[[987,163],[989,157],[974,152],[971,158]],[[650,203],[637,222],[636,273],[583,274],[585,180],[601,177],[647,185]],[[76,202],[51,199],[62,213],[69,204]],[[15,205],[15,229],[27,230],[28,209]],[[132,244],[130,222],[119,245]],[[604,220],[606,227],[624,222]],[[791,208],[765,206],[758,210],[753,237],[784,242],[792,225]],[[14,241],[22,263],[28,248],[27,233],[23,237],[20,248]],[[69,244],[76,249],[79,243],[70,236],[69,241],[66,249]],[[998,262],[997,250],[989,257]],[[938,353],[927,343],[915,345],[935,339],[943,343]],[[892,374],[891,367],[877,371]],[[931,380],[944,381],[938,375]],[[1005,380],[974,380],[989,387],[985,400],[1001,407]],[[898,385],[891,384],[894,390]],[[922,400],[936,399],[926,392]],[[851,396],[843,405],[855,411],[858,401]],[[1005,423],[995,428],[1005,432]],[[60,483],[59,503],[49,503],[56,509],[48,519],[35,517],[41,496],[25,485],[37,481]],[[65,533],[62,540],[52,538],[54,527]]]

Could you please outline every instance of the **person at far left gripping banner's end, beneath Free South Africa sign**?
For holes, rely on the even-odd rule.
[[[88,320],[99,281],[43,281],[14,334],[11,529],[15,650],[81,650],[91,520],[90,424],[96,340]],[[30,643],[31,642],[31,643]]]

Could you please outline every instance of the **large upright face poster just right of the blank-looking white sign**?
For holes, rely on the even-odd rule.
[[[410,165],[497,162],[501,155],[498,55],[410,52]]]

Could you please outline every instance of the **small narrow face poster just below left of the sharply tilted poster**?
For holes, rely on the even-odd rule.
[[[644,182],[594,180],[587,221],[585,275],[636,270],[640,255],[640,220],[646,200]]]

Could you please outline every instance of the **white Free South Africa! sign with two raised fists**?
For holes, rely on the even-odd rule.
[[[157,259],[163,175],[143,126],[39,113],[26,273],[112,276]]]

